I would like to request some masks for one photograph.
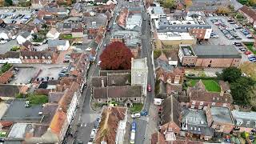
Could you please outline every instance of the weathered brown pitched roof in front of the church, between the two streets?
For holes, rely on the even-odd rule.
[[[102,141],[109,144],[115,143],[118,122],[124,120],[126,114],[126,107],[103,107],[101,122],[99,123],[98,131],[94,139],[95,143],[101,143]]]

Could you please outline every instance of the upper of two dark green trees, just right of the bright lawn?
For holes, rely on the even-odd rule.
[[[219,75],[219,78],[228,81],[234,82],[236,79],[241,77],[241,70],[236,67],[229,67],[223,70],[222,74]]]

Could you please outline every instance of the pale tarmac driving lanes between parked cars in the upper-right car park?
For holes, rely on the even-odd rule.
[[[221,20],[230,30],[235,30],[234,34],[237,34],[241,39],[228,39],[226,38],[225,34],[216,26],[211,20],[218,19]],[[213,29],[213,32],[218,35],[218,38],[210,38],[206,44],[212,45],[232,45],[234,42],[254,42],[254,38],[246,38],[246,35],[242,34],[239,29],[235,29],[235,24],[230,24],[227,22],[228,18],[224,16],[214,16],[214,17],[207,17],[206,22],[208,22]]]

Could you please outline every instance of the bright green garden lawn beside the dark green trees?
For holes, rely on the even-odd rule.
[[[194,86],[199,80],[191,80],[190,85]],[[221,88],[214,80],[202,80],[202,83],[206,86],[206,90],[212,92],[220,92]]]

